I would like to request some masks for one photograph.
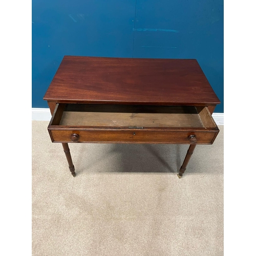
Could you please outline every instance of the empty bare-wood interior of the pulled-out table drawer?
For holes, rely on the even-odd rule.
[[[206,106],[59,103],[50,125],[104,129],[218,129]]]

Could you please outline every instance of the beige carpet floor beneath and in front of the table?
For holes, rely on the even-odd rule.
[[[223,126],[198,145],[70,144],[32,121],[32,255],[223,255]]]

